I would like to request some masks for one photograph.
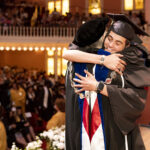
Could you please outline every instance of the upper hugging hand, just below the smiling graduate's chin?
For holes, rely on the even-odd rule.
[[[125,69],[126,62],[123,61],[120,57],[123,57],[121,54],[111,54],[105,57],[104,66],[118,72],[120,75]]]

